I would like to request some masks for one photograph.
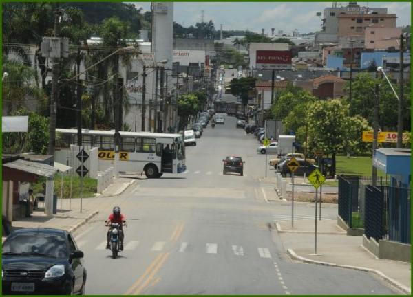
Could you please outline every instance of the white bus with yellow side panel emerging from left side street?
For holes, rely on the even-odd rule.
[[[98,168],[114,167],[115,131],[82,129],[82,145],[98,148]],[[77,144],[76,129],[56,129],[56,148]],[[180,134],[120,131],[118,172],[142,173],[148,178],[163,173],[183,173],[184,139]]]

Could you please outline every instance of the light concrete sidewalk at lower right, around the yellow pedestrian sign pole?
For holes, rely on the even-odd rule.
[[[297,261],[371,272],[404,294],[411,292],[410,263],[378,259],[363,246],[361,236],[347,236],[337,221],[317,221],[317,254],[315,220],[276,223],[279,237],[289,256]]]

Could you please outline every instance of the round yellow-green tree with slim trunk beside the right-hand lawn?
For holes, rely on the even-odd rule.
[[[315,101],[308,109],[308,147],[311,151],[332,154],[332,175],[335,157],[346,142],[348,105],[340,100]]]

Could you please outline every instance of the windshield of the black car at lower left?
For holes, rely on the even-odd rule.
[[[3,243],[3,255],[50,256],[66,258],[68,255],[65,237],[50,233],[12,234]]]

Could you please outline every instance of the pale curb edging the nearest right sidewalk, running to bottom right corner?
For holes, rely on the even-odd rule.
[[[390,283],[390,285],[393,285],[394,287],[399,289],[401,292],[403,292],[407,295],[411,294],[411,289],[409,289],[405,285],[401,285],[401,283],[399,283],[398,281],[395,281],[393,278],[390,278],[390,277],[386,276],[380,270],[374,270],[372,268],[366,268],[366,267],[358,267],[358,266],[352,266],[352,265],[342,265],[342,264],[336,264],[336,263],[329,263],[329,262],[311,260],[311,259],[304,258],[302,256],[298,256],[297,254],[295,254],[293,249],[287,249],[287,254],[292,259],[295,259],[297,261],[301,261],[301,262],[304,262],[304,263],[308,263],[308,264],[324,265],[324,266],[330,266],[330,267],[341,267],[341,268],[347,268],[347,269],[352,269],[352,270],[359,270],[359,271],[363,271],[363,272],[371,272],[371,273],[376,274],[377,276],[379,276],[379,278],[381,278],[383,281],[387,281],[388,283]]]

